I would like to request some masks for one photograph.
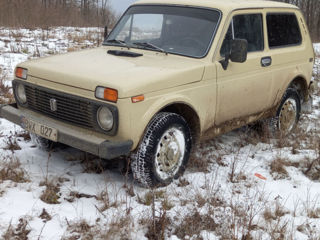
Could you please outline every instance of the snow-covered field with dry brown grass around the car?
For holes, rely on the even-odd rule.
[[[0,28],[0,80],[11,86],[29,58],[96,46],[100,32]],[[235,130],[201,143],[180,180],[148,190],[122,160],[48,153],[0,119],[0,239],[320,239],[319,121],[317,90],[288,139]]]

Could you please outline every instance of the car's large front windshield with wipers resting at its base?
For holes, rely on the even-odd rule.
[[[204,57],[214,37],[220,13],[177,6],[133,6],[125,13],[104,45]]]

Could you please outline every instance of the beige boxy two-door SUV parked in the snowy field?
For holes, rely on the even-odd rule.
[[[19,64],[0,115],[41,143],[131,156],[134,178],[161,186],[200,139],[266,118],[289,133],[310,108],[313,62],[293,5],[142,0],[103,46]]]

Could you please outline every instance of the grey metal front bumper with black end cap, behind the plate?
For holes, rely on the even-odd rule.
[[[121,142],[108,141],[103,136],[94,134],[93,131],[85,131],[80,127],[61,123],[27,109],[18,109],[16,104],[0,105],[1,118],[5,118],[21,126],[22,116],[58,129],[58,142],[92,153],[100,158],[114,159],[119,156],[128,155],[133,145],[131,140]]]

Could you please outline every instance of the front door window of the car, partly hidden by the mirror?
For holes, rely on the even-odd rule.
[[[234,38],[246,39],[248,52],[262,51],[264,48],[262,15],[234,16],[220,49],[221,56],[225,56],[230,51],[230,40]]]

